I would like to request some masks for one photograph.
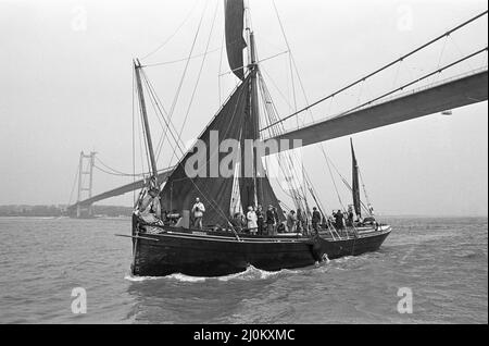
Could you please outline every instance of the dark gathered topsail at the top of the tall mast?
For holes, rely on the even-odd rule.
[[[243,0],[224,0],[226,51],[229,67],[239,79],[244,79],[242,50],[247,42],[242,37]]]

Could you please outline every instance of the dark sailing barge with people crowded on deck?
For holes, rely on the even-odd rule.
[[[172,273],[183,273],[195,276],[220,276],[244,271],[249,265],[261,270],[278,271],[312,265],[326,259],[343,256],[358,256],[377,250],[390,234],[389,225],[378,224],[371,218],[371,224],[355,222],[341,230],[326,219],[314,228],[305,221],[301,231],[278,234],[248,234],[238,232],[231,224],[231,208],[238,202],[240,208],[247,206],[276,206],[280,221],[284,212],[274,189],[269,183],[262,158],[254,149],[251,162],[244,158],[249,139],[260,138],[259,94],[265,103],[269,104],[269,95],[264,86],[260,72],[254,36],[251,28],[244,28],[243,0],[225,1],[225,34],[226,49],[230,70],[239,78],[239,84],[217,114],[204,128],[199,140],[212,147],[213,132],[218,132],[221,140],[231,139],[239,144],[237,153],[221,150],[205,151],[203,166],[199,174],[189,176],[186,166],[193,162],[197,148],[184,152],[166,181],[158,173],[151,133],[147,116],[143,94],[143,66],[138,60],[134,62],[136,87],[139,98],[140,114],[143,124],[147,151],[151,175],[140,193],[133,215],[133,263],[131,273],[141,276],[162,276]],[[247,21],[247,23],[249,23]],[[243,38],[246,33],[246,38]],[[248,64],[243,65],[243,49],[248,48]],[[148,83],[147,83],[148,85]],[[151,97],[151,96],[150,96]],[[266,104],[265,104],[266,106]],[[273,112],[271,108],[264,108]],[[170,127],[170,126],[168,126]],[[274,128],[269,128],[273,131]],[[168,128],[171,131],[171,128]],[[275,128],[275,131],[278,131]],[[287,153],[281,153],[287,155]],[[212,174],[213,162],[221,163],[229,156],[235,172],[230,176]],[[353,146],[353,182],[352,195],[356,215],[361,215],[359,191],[359,172]],[[279,157],[279,160],[290,158]],[[215,161],[213,161],[215,160]],[[242,164],[240,162],[243,162]],[[215,163],[214,163],[215,165]],[[251,174],[248,174],[251,172]],[[237,186],[237,188],[236,188]],[[308,185],[309,186],[309,185]],[[313,190],[309,187],[311,194]],[[154,194],[154,191],[156,191]],[[155,199],[153,199],[153,197]],[[205,205],[204,227],[190,226],[189,209],[196,197]],[[313,195],[316,205],[318,201]],[[145,218],[141,211],[150,202],[156,200],[162,210],[175,211],[181,218],[175,225],[162,222],[158,218]],[[305,198],[301,199],[302,203]],[[300,201],[297,201],[300,203]],[[311,219],[309,206],[304,214]],[[246,209],[244,209],[246,210]]]

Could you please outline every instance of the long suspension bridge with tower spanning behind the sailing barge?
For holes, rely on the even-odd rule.
[[[441,34],[440,36],[427,41],[426,44],[411,50],[401,58],[377,69],[376,71],[366,74],[358,81],[347,85],[343,88],[338,89],[335,92],[309,104],[308,107],[293,112],[292,114],[277,120],[261,129],[263,139],[300,139],[302,146],[310,146],[334,138],[348,136],[351,134],[387,126],[421,116],[427,116],[430,114],[437,114],[440,112],[450,111],[460,107],[469,106],[473,103],[487,101],[488,98],[488,66],[487,63],[477,69],[468,69],[461,74],[452,75],[448,78],[440,79],[436,83],[429,82],[434,76],[438,77],[446,71],[453,70],[455,66],[461,66],[464,62],[482,54],[487,55],[488,47],[481,47],[473,52],[466,53],[457,60],[454,60],[443,66],[438,66],[431,72],[426,73],[415,79],[404,83],[401,86],[393,87],[390,90],[363,102],[355,107],[352,107],[343,112],[334,114],[327,119],[323,119],[310,124],[297,126],[281,132],[280,134],[265,136],[265,131],[268,129],[268,134],[273,134],[269,129],[275,126],[283,126],[288,121],[301,116],[301,114],[309,111],[311,108],[324,102],[328,99],[338,97],[339,95],[347,92],[349,89],[372,79],[376,75],[383,73],[388,69],[393,69],[401,64],[406,59],[419,53],[434,44],[447,39],[453,33],[469,25],[471,23],[480,20],[487,15],[487,11],[472,17],[468,21],[461,23],[454,28]],[[85,162],[87,161],[87,162]],[[84,162],[86,164],[84,164]],[[102,162],[100,162],[102,163]],[[103,164],[103,163],[102,163]],[[92,195],[92,172],[93,168],[99,169],[102,172],[115,175],[130,175],[124,174],[116,170],[110,169],[105,165],[105,169],[98,165],[96,162],[96,153],[90,155],[80,153],[79,166],[78,166],[78,196],[75,203],[67,208],[67,211],[73,217],[83,217],[92,214],[91,206],[98,201],[124,195],[126,193],[140,189],[143,186],[145,180],[141,178],[143,174],[139,174],[139,180],[133,183],[126,184],[113,188],[111,190]],[[159,182],[165,182],[168,175],[172,173],[173,168],[165,169],[159,172]],[[88,186],[84,186],[82,177],[88,176]],[[73,193],[73,190],[72,190]],[[87,196],[83,196],[84,193]]]

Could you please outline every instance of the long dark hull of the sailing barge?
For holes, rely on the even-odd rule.
[[[183,273],[222,276],[244,271],[250,264],[266,271],[312,265],[326,258],[358,256],[377,250],[390,227],[356,238],[327,239],[305,236],[244,236],[165,228],[134,238],[131,272],[140,276]],[[135,234],[136,235],[136,234]]]

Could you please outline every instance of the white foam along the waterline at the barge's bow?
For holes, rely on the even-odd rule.
[[[189,276],[181,273],[171,274],[167,276],[134,276],[131,274],[126,274],[124,276],[125,280],[128,280],[130,282],[145,282],[145,281],[151,281],[151,280],[172,280],[172,281],[179,281],[185,283],[202,283],[205,281],[222,281],[222,282],[228,282],[228,281],[255,281],[255,280],[266,280],[269,277],[275,277],[284,274],[296,274],[299,273],[298,270],[289,270],[289,269],[283,269],[276,272],[269,272],[266,270],[261,270],[258,268],[254,268],[253,265],[249,265],[246,271],[236,273],[236,274],[229,274],[224,276]]]

